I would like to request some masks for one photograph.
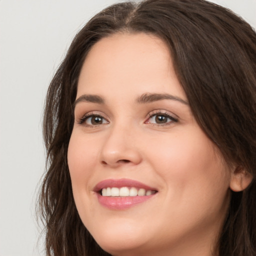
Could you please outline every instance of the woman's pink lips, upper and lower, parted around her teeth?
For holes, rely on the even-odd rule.
[[[122,187],[122,186],[128,186],[128,187],[138,187],[138,188],[144,188],[146,190],[156,190],[153,187],[150,187],[148,185],[145,185],[139,181],[132,180],[132,179],[106,179],[102,180],[99,183],[96,184],[93,191],[96,192],[98,202],[109,209],[126,209],[131,206],[134,206],[138,203],[142,203],[150,199],[155,194],[151,195],[145,195],[145,196],[125,196],[125,197],[111,197],[111,196],[102,196],[99,191],[104,187]]]

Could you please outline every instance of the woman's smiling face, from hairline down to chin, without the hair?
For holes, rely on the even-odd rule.
[[[94,44],[74,115],[73,196],[97,243],[113,255],[210,255],[230,174],[196,123],[164,42],[118,33]]]

